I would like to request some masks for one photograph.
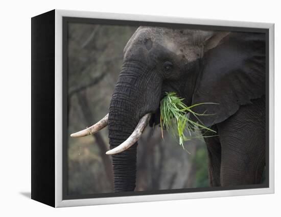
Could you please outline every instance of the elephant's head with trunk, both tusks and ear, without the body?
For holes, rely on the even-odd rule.
[[[95,133],[108,124],[114,191],[133,191],[137,139],[159,122],[165,92],[176,92],[211,126],[240,105],[265,94],[264,34],[141,26],[124,48],[124,62],[109,114],[72,136]],[[191,117],[192,118],[192,117]]]

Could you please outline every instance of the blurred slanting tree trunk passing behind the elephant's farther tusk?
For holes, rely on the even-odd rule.
[[[93,117],[92,112],[90,111],[88,100],[86,97],[86,92],[85,91],[79,92],[77,97],[81,107],[81,111],[83,113],[85,123],[87,124],[87,126],[91,126],[93,123],[96,123],[96,120]],[[113,170],[112,170],[110,157],[105,154],[105,152],[108,151],[106,147],[106,143],[104,142],[100,132],[92,134],[92,137],[95,138],[97,145],[101,151],[101,157],[105,168],[106,176],[113,190]]]

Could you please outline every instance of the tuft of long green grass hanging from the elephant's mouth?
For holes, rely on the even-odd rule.
[[[179,145],[186,150],[183,146],[185,141],[206,137],[204,134],[201,134],[202,130],[216,132],[204,126],[199,118],[200,116],[212,114],[205,114],[205,112],[203,114],[198,114],[192,111],[192,108],[202,104],[217,103],[205,102],[186,106],[182,101],[183,98],[179,98],[175,92],[166,93],[166,96],[160,101],[160,126],[162,131],[162,139],[164,139],[163,127],[165,127],[175,138],[178,139]],[[189,119],[191,114],[196,117],[197,122]],[[189,137],[186,137],[185,134],[189,134]]]

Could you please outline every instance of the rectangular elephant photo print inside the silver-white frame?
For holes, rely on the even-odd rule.
[[[264,186],[265,33],[68,22],[65,40],[68,196]]]

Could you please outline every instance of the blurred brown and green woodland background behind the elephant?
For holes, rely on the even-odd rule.
[[[68,23],[68,134],[108,113],[123,61],[137,26]],[[188,154],[160,127],[147,127],[138,142],[136,191],[208,186],[203,141],[185,143]],[[68,194],[113,192],[108,131],[68,138]]]

